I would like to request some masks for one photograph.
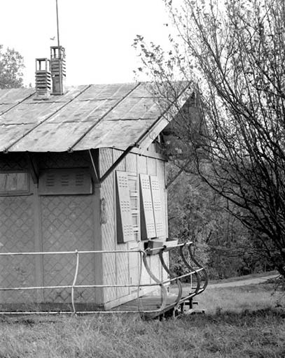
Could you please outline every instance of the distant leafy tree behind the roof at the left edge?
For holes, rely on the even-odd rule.
[[[22,87],[22,69],[24,69],[24,58],[18,51],[0,45],[0,88]]]

